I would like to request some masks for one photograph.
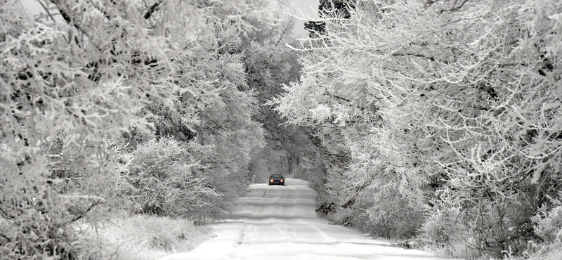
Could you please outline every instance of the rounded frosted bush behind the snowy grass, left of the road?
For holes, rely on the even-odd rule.
[[[195,142],[152,139],[138,145],[126,178],[136,188],[133,209],[160,216],[209,216],[221,211],[221,194],[209,186],[205,166],[195,152],[209,153]]]

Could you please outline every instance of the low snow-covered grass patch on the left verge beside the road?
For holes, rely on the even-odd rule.
[[[170,253],[188,252],[210,237],[209,228],[185,219],[120,216],[98,230],[107,259],[159,259]]]

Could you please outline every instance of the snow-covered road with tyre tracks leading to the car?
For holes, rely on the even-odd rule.
[[[254,184],[244,206],[214,225],[214,238],[164,259],[443,259],[330,225],[315,215],[315,195],[293,178],[286,186]]]

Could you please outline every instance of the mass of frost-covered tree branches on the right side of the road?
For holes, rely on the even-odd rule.
[[[327,142],[351,156],[332,186],[370,202],[357,205],[370,219],[454,207],[457,218],[438,219],[461,225],[470,247],[517,248],[532,236],[521,223],[560,186],[562,5],[423,4],[357,1],[351,18],[326,19],[298,47],[301,82],[272,103],[290,123],[344,136]],[[384,205],[395,202],[407,207]]]

